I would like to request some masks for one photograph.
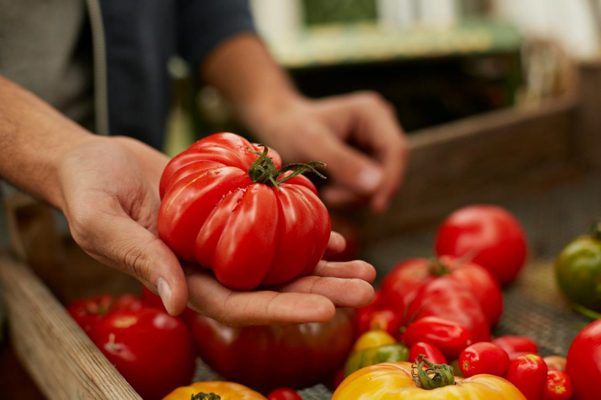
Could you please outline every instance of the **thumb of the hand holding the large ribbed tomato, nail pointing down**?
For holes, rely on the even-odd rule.
[[[186,277],[162,240],[129,216],[94,213],[85,221],[87,231],[74,236],[81,239],[78,243],[81,241],[86,251],[159,294],[169,314],[180,314],[186,308]]]

